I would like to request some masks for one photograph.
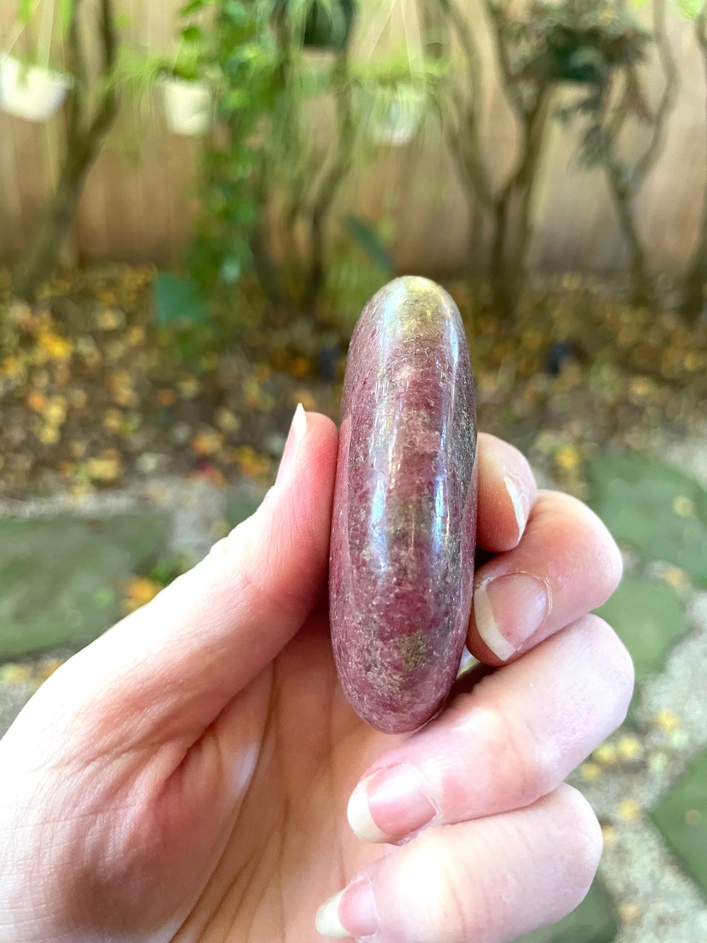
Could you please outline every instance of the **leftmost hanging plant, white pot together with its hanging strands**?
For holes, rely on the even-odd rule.
[[[72,0],[64,0],[64,8]],[[9,42],[8,52],[0,58],[0,108],[26,121],[45,122],[57,114],[67,92],[74,84],[73,76],[49,66],[54,28],[54,0],[44,0],[40,34],[35,57],[27,61],[10,55],[39,4],[21,0],[17,28]],[[64,9],[64,15],[66,15]]]

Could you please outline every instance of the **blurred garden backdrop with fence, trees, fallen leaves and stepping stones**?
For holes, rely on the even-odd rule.
[[[0,734],[257,506],[361,306],[430,275],[481,428],[626,561],[639,684],[572,777],[600,876],[526,943],[704,943],[706,70],[701,0],[4,2]]]

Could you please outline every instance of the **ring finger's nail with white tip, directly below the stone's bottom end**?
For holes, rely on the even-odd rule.
[[[437,809],[419,769],[379,769],[355,787],[346,810],[362,841],[399,841],[435,819]]]

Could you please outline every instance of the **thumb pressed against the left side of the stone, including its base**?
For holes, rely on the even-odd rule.
[[[90,706],[94,736],[98,728],[124,747],[154,733],[199,736],[321,596],[336,461],[334,422],[298,406],[277,483],[255,514],[74,655],[40,694],[54,691],[84,724]]]

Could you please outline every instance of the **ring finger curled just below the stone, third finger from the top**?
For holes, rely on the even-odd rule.
[[[618,726],[632,691],[629,653],[585,616],[377,760],[349,802],[354,833],[400,841],[535,802]]]

